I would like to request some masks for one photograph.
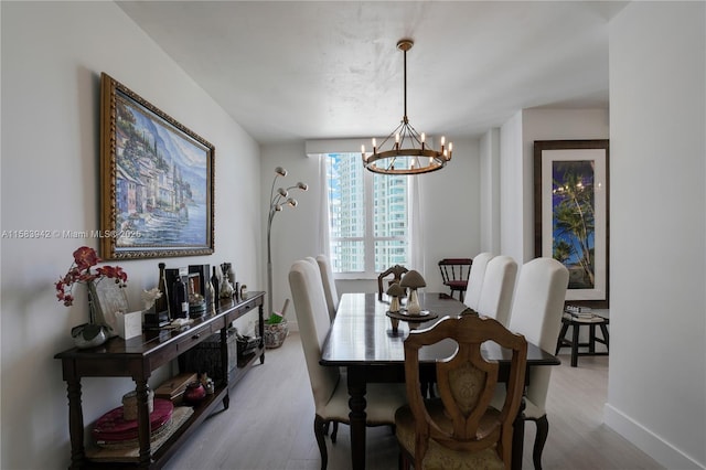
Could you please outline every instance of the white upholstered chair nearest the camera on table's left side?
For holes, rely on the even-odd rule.
[[[319,364],[321,348],[331,324],[319,270],[309,261],[296,261],[289,270],[289,287],[311,383],[314,437],[321,452],[321,469],[324,470],[328,467],[325,429],[329,423],[350,424],[349,393],[339,368]],[[395,424],[395,410],[406,403],[406,395],[402,385],[391,385],[368,384],[365,408],[367,426]],[[331,440],[335,441],[334,435]]]

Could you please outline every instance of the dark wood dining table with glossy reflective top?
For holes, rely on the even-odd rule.
[[[422,313],[429,317],[422,322],[400,321],[396,331],[392,319],[386,314],[389,299],[377,293],[343,293],[336,316],[324,341],[320,364],[331,367],[346,367],[349,406],[351,408],[351,459],[354,470],[365,468],[365,392],[366,384],[379,382],[405,382],[404,341],[409,330],[428,328],[443,317],[458,317],[466,305],[446,293],[419,292]],[[434,318],[431,318],[434,317]],[[434,376],[435,362],[451,355],[454,343],[440,342],[425,348],[420,360],[427,365],[426,373]],[[483,344],[483,355],[500,364],[499,381],[505,380],[504,373],[510,366],[512,353],[495,343]],[[536,366],[558,365],[555,355],[537,345],[527,343],[527,370]],[[528,377],[530,374],[526,374]],[[522,468],[524,440],[524,419],[522,410],[515,419],[513,432],[513,469]]]

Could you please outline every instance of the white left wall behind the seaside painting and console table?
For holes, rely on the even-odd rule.
[[[168,266],[228,260],[258,287],[260,212],[246,203],[259,194],[253,139],[115,3],[1,2],[1,9],[2,229],[98,228],[99,75],[106,72],[216,149],[215,254],[170,258]],[[53,282],[84,244],[97,248],[98,239],[2,238],[0,468],[68,466],[66,385],[53,356],[72,346],[69,329],[88,318],[82,296],[63,307]],[[158,260],[118,264],[138,310],[141,290],[157,285]],[[83,385],[86,425],[135,387],[125,378]]]

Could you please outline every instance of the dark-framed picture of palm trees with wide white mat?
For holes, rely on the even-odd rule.
[[[569,270],[566,300],[608,308],[608,140],[534,142],[535,256]]]

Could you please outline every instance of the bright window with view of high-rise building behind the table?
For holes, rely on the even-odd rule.
[[[365,171],[360,153],[328,153],[327,181],[333,271],[373,278],[408,266],[408,177]]]

